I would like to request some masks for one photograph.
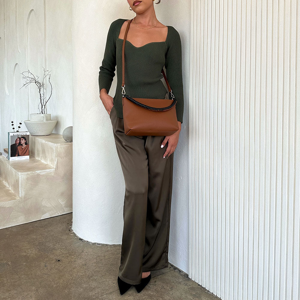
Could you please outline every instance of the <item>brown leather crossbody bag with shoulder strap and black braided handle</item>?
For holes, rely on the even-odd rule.
[[[179,130],[176,103],[172,89],[167,80],[164,69],[162,73],[167,83],[172,99],[148,99],[131,98],[125,95],[125,58],[124,49],[127,32],[130,23],[128,22],[122,47],[122,106],[124,132],[126,135],[155,135],[168,136]],[[170,98],[170,97],[169,97]]]

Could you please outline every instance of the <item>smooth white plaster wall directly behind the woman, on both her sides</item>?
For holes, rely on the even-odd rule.
[[[185,112],[174,153],[169,261],[187,272],[190,6],[164,0],[154,5],[158,20],[174,26],[182,39]],[[98,73],[111,22],[134,15],[126,0],[72,1],[73,230],[88,241],[122,242],[125,182],[111,121],[99,98]],[[112,97],[116,81],[117,76],[109,93]]]

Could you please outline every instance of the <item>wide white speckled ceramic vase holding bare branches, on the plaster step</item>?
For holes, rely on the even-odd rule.
[[[57,123],[50,113],[31,113],[30,120],[24,121],[31,135],[50,135]]]

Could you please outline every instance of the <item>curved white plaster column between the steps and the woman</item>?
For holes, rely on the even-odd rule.
[[[125,183],[98,87],[107,32],[121,12],[108,15],[102,6],[104,1],[72,1],[73,230],[88,241],[121,244]],[[115,89],[116,80],[111,96]]]

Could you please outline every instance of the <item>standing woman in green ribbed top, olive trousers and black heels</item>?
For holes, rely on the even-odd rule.
[[[166,137],[124,133],[122,44],[130,20],[117,19],[111,23],[99,71],[100,99],[110,115],[125,179],[124,228],[117,279],[121,295],[132,285],[140,292],[151,279],[150,271],[169,264],[173,152],[179,140],[184,107],[182,49],[177,30],[156,18],[153,1],[127,0],[136,16],[125,41],[126,94],[133,98],[170,99],[161,81],[165,66],[177,100],[179,130]],[[112,98],[108,92],[116,66],[117,88]]]

